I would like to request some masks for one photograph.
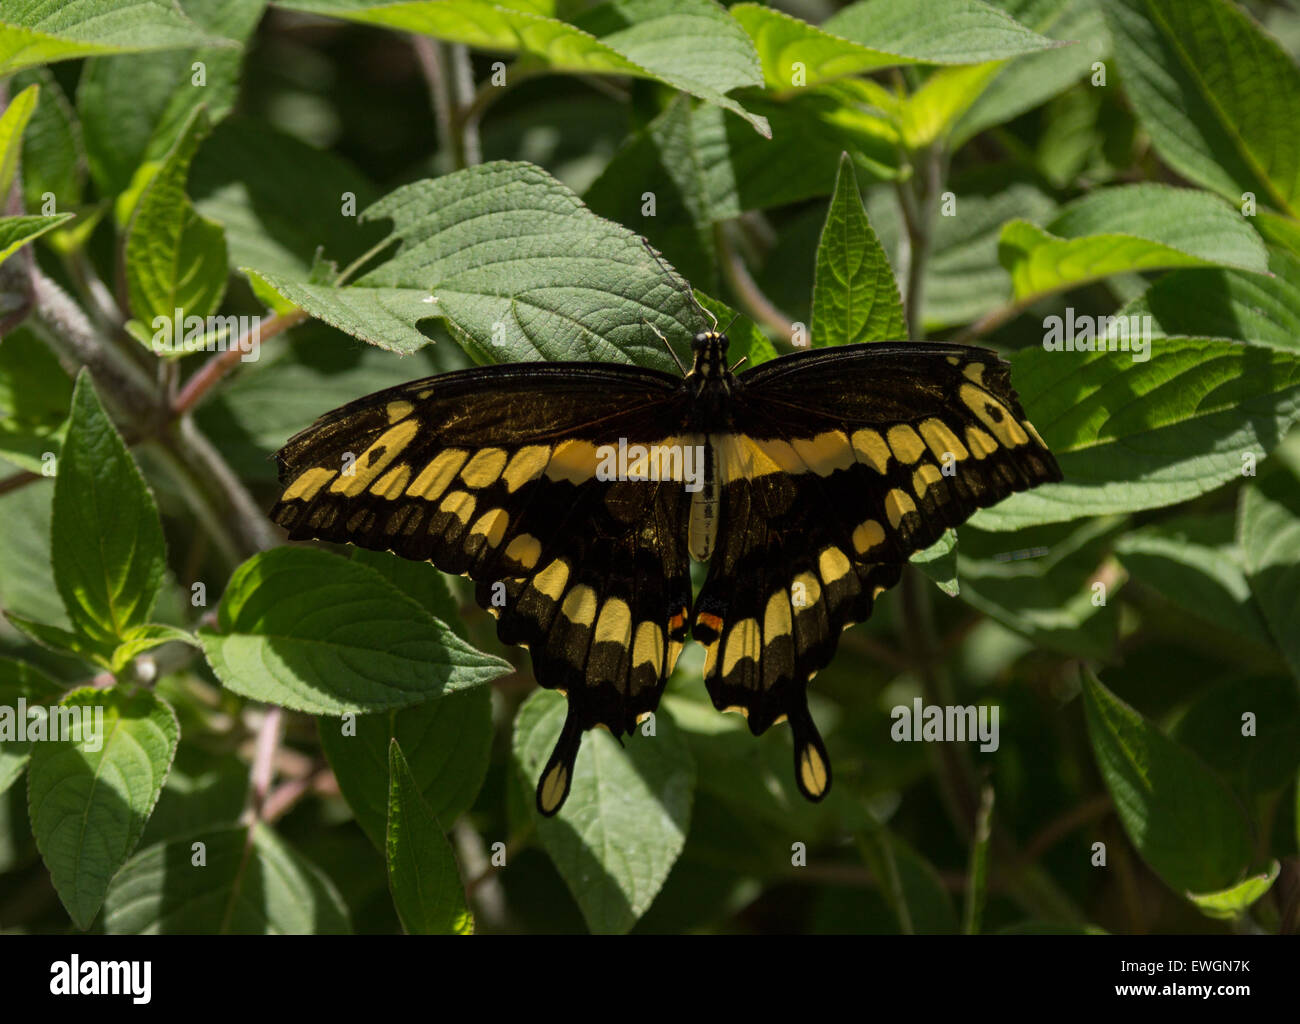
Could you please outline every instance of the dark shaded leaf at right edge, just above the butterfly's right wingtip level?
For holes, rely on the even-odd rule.
[[[1153,338],[1240,338],[1300,351],[1300,259],[1270,247],[1269,273],[1271,277],[1238,270],[1175,270],[1117,316],[1150,317]]]

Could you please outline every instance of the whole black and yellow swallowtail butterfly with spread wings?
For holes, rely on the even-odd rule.
[[[671,348],[670,348],[671,351]],[[810,800],[831,759],[807,686],[909,556],[1061,480],[1010,368],[954,344],[796,351],[734,373],[728,338],[677,377],[515,363],[343,405],[277,454],[291,539],[347,541],[476,582],[568,712],[537,808],[568,797],[585,730],[655,711],[689,635],[715,707],[788,721]],[[738,364],[737,364],[738,365]],[[698,595],[690,561],[707,563]]]

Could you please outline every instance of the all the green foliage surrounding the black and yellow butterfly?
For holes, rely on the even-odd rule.
[[[6,0],[0,928],[1294,929],[1292,6]],[[563,697],[463,581],[283,543],[268,455],[714,318],[989,347],[1065,480],[842,635],[823,803],[688,645],[541,817]]]

